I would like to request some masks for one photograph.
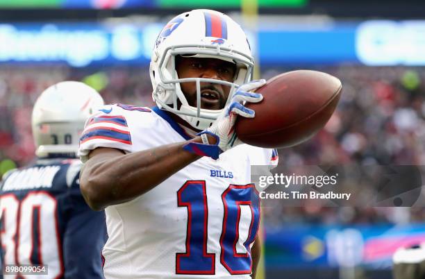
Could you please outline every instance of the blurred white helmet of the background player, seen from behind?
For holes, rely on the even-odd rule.
[[[63,81],[44,90],[33,108],[35,154],[76,153],[85,120],[101,105],[99,93],[77,81]]]

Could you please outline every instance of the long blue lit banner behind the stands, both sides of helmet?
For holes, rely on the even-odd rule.
[[[62,62],[72,67],[148,65],[162,26],[0,24],[0,62]],[[283,27],[263,26],[257,40],[251,40],[261,65],[425,65],[425,21]]]

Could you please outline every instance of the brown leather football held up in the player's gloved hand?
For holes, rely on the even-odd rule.
[[[295,146],[313,137],[331,118],[341,96],[338,78],[322,71],[289,71],[270,78],[256,92],[260,103],[247,103],[254,118],[238,117],[236,135],[265,148]]]

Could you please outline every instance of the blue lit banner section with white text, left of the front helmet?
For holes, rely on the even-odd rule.
[[[0,24],[0,62],[65,62],[72,67],[150,60],[156,25]]]

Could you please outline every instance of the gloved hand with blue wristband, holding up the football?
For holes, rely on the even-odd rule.
[[[235,129],[236,118],[240,117],[253,118],[256,112],[244,107],[246,102],[258,103],[263,100],[263,95],[252,90],[256,90],[259,87],[265,85],[264,79],[258,81],[251,81],[238,87],[238,90],[233,94],[230,103],[223,109],[223,112],[217,117],[217,120],[213,122],[213,125],[206,130],[203,130],[198,135],[201,136],[203,144],[191,142],[183,146],[183,149],[199,155],[218,159],[219,155],[228,149],[231,149],[242,142],[238,139]],[[207,135],[212,135],[216,138],[215,144],[208,142]]]

